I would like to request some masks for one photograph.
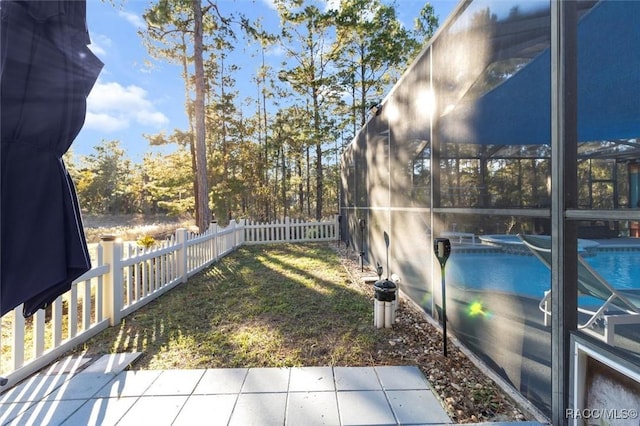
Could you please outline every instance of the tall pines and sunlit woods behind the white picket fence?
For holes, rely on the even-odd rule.
[[[152,145],[175,144],[141,164],[119,141],[102,141],[92,155],[68,156],[83,210],[91,213],[194,214],[212,218],[322,218],[338,209],[339,154],[433,35],[438,19],[425,3],[414,28],[395,4],[341,0],[275,0],[277,31],[223,14],[214,0],[156,0],[140,36],[153,57],[180,66],[189,128],[146,135]],[[239,64],[230,53],[253,47],[259,66],[255,96],[239,99]],[[279,67],[265,62],[282,49]],[[211,209],[211,210],[210,210]]]

